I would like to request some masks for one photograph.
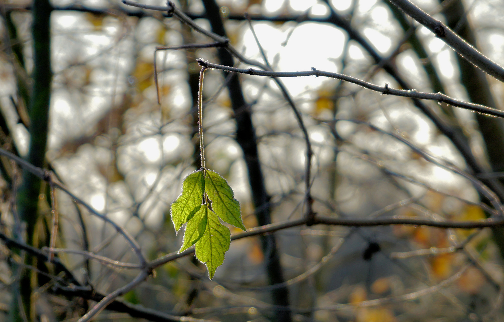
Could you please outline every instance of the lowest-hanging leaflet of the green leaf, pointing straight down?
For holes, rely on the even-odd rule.
[[[215,270],[224,262],[224,254],[231,243],[229,229],[220,223],[219,217],[208,206],[203,205],[207,212],[207,224],[203,236],[196,242],[196,258],[207,265],[208,276],[214,277]]]

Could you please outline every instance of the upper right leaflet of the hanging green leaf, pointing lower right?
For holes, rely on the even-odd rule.
[[[231,187],[218,173],[206,170],[205,192],[212,200],[212,209],[225,222],[246,230],[241,220],[240,203],[234,199]]]

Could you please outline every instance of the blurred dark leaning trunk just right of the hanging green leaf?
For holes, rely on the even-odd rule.
[[[212,31],[220,36],[226,37],[224,24],[222,23],[219,7],[214,0],[203,0],[207,18],[212,26]],[[218,48],[220,63],[227,66],[233,66],[233,57],[224,48]],[[225,73],[227,76],[228,73]],[[238,75],[233,74],[227,84],[231,105],[235,112],[236,119],[236,141],[243,150],[245,163],[248,170],[248,180],[254,206],[256,208],[256,217],[259,225],[271,223],[271,209],[268,205],[270,196],[266,191],[263,173],[259,163],[257,149],[257,138],[250,111],[246,109],[245,99],[241,91]],[[270,285],[282,283],[284,281],[282,267],[280,265],[280,256],[278,254],[276,238],[274,234],[261,236],[261,244],[265,254],[266,272]],[[289,307],[289,293],[286,287],[278,288],[272,291],[273,304]],[[276,321],[291,321],[291,312],[288,309],[275,311]]]

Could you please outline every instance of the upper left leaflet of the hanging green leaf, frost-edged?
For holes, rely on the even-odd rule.
[[[176,231],[198,211],[198,207],[201,206],[203,201],[204,192],[205,179],[202,170],[185,177],[182,183],[182,193],[171,204],[171,220]]]

